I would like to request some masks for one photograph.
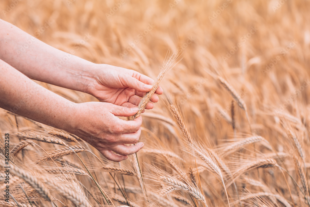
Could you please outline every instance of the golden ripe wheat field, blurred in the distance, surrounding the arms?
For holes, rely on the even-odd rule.
[[[135,155],[108,161],[12,113],[19,106],[0,109],[15,199],[0,206],[310,206],[309,9],[306,0],[2,0],[1,19],[70,55],[153,79],[168,50],[183,59],[142,114],[142,177]]]

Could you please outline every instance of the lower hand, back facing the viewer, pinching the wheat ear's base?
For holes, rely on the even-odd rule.
[[[76,110],[74,118],[76,123],[73,129],[67,131],[91,144],[108,160],[115,162],[126,160],[127,155],[138,152],[144,146],[143,142],[137,143],[141,134],[141,116],[133,121],[117,117],[132,116],[138,112],[137,107],[127,108],[111,103],[85,102],[78,104]]]

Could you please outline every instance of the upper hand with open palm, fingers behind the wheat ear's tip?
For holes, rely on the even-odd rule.
[[[89,85],[88,92],[100,101],[112,103],[118,106],[135,107],[139,105],[145,92],[152,89],[153,79],[134,70],[128,70],[112,65],[95,65],[92,69],[95,81]],[[162,94],[158,87],[156,94]],[[157,102],[158,96],[154,94],[151,101]],[[146,109],[152,109],[153,103],[149,102]]]

